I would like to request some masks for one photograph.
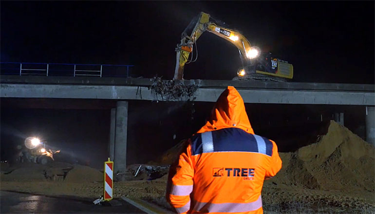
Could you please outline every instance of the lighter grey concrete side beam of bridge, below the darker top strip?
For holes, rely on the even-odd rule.
[[[148,87],[96,85],[35,85],[0,84],[0,97],[12,98],[73,98],[187,101],[191,97],[166,99]],[[199,88],[195,101],[216,102],[225,88]],[[264,104],[326,104],[375,105],[374,91],[307,90],[307,89],[239,89],[245,103]]]

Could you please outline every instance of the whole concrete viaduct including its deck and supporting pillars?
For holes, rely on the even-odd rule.
[[[194,90],[179,96],[163,94],[157,90],[157,81],[145,78],[2,75],[0,97],[117,100],[116,108],[111,110],[110,157],[115,162],[115,168],[120,171],[126,167],[128,100],[216,102],[227,86],[238,89],[245,103],[366,107],[366,139],[369,143],[375,144],[374,85],[226,80],[183,80],[163,83],[164,86],[177,85],[179,88]],[[338,114],[337,117],[340,120],[343,115]]]

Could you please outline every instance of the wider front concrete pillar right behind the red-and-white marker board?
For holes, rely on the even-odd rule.
[[[112,113],[112,112],[111,112]],[[116,123],[114,130],[114,171],[126,170],[126,147],[128,135],[128,102],[118,101],[116,106]]]

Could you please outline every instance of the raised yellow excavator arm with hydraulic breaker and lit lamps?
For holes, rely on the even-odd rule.
[[[200,15],[194,18],[187,26],[181,35],[181,43],[176,48],[176,67],[173,79],[183,79],[185,64],[190,63],[189,55],[193,51],[193,45],[197,39],[208,31],[216,36],[220,36],[225,40],[235,45],[241,55],[241,58],[251,59],[259,55],[259,50],[250,45],[250,42],[238,31],[231,30],[225,27],[218,26],[214,22],[209,21],[209,14],[201,12]],[[187,36],[187,31],[192,28],[190,36]]]

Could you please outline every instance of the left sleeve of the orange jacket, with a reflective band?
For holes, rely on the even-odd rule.
[[[191,161],[191,146],[188,144],[179,159],[169,168],[166,199],[177,213],[190,209],[190,193],[193,190],[194,168]]]

